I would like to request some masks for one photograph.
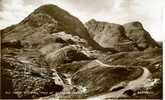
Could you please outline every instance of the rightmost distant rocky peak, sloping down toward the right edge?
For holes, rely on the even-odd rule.
[[[141,49],[160,47],[158,43],[143,28],[140,22],[130,22],[123,25],[126,35]]]

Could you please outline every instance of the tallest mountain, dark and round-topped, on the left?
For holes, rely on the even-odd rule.
[[[4,41],[11,40],[12,38],[26,40],[30,43],[34,41],[36,44],[40,44],[39,42],[43,38],[51,37],[50,35],[52,33],[64,31],[67,34],[85,39],[94,49],[103,49],[97,42],[90,38],[87,29],[78,18],[52,4],[39,7],[19,24],[13,26],[12,29],[8,29],[4,30],[7,33],[3,34]]]

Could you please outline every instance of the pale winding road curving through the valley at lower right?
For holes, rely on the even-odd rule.
[[[103,66],[110,67],[109,65],[104,64],[99,60],[96,60],[96,62]],[[124,95],[123,93],[126,90],[143,87],[146,79],[148,79],[151,76],[151,73],[149,72],[149,70],[147,68],[145,68],[145,67],[141,67],[141,68],[143,69],[143,74],[136,80],[130,81],[125,88],[118,90],[118,91],[114,91],[114,92],[109,92],[109,93],[105,93],[105,94],[101,94],[101,95],[92,96],[92,97],[89,97],[88,100],[103,100],[106,98],[125,97],[126,95]]]

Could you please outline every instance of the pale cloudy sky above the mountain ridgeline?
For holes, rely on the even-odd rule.
[[[165,0],[0,0],[0,29],[19,23],[43,4],[55,4],[83,23],[90,19],[124,24],[140,21],[158,41],[165,33]]]

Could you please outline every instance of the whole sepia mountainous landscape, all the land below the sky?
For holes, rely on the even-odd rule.
[[[162,98],[162,42],[140,22],[83,25],[43,5],[0,33],[3,99]]]

